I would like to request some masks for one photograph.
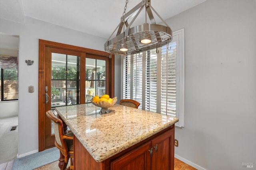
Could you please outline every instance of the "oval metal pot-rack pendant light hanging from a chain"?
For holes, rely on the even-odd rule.
[[[105,51],[115,55],[130,55],[162,47],[172,41],[172,29],[152,8],[151,0],[142,0],[126,13],[127,3],[128,0],[126,0],[120,23],[104,44]],[[145,10],[145,23],[131,27],[143,9]],[[165,25],[156,24],[152,11]],[[147,23],[147,17],[151,24]],[[115,33],[116,37],[113,37]]]

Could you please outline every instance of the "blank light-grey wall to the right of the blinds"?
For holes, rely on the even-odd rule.
[[[256,169],[256,0],[207,0],[167,23],[185,31],[176,157],[198,169]]]

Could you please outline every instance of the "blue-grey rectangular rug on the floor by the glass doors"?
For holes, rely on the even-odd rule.
[[[55,162],[60,157],[60,150],[56,147],[17,158],[14,160],[12,170],[33,170],[46,164]]]

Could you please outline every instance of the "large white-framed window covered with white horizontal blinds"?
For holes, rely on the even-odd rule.
[[[157,50],[157,51],[156,51]],[[124,56],[122,98],[140,102],[139,109],[179,118],[184,127],[184,29],[169,45]]]

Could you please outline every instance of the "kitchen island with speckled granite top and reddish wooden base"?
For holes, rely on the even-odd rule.
[[[115,104],[56,107],[74,133],[76,170],[174,169],[175,117]]]

